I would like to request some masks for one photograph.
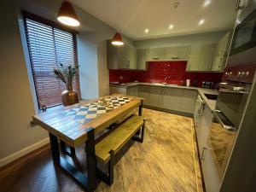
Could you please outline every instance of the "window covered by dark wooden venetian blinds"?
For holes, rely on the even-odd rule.
[[[60,63],[78,65],[76,34],[36,15],[26,12],[23,15],[38,107],[59,105],[66,85],[55,78],[52,69]],[[78,91],[80,97],[79,74],[73,79],[73,90]]]

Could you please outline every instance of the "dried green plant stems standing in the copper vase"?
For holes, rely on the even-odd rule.
[[[67,90],[72,89],[73,77],[79,72],[79,66],[63,65],[60,63],[59,66],[52,70],[52,73],[57,79],[61,79],[64,84],[67,84]]]

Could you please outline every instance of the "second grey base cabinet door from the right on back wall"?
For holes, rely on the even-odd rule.
[[[183,94],[182,89],[169,88],[169,87],[165,88],[162,108],[166,108],[173,111],[180,111],[182,94]]]

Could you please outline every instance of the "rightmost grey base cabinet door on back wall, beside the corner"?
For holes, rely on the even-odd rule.
[[[194,113],[196,90],[183,90],[181,111],[184,113]]]

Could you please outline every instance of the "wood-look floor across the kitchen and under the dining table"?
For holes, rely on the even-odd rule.
[[[115,165],[113,185],[100,183],[96,191],[202,191],[193,119],[149,109],[143,110],[143,116],[147,119],[144,143],[133,143]],[[77,154],[75,162],[84,165],[84,149],[78,148]],[[49,148],[44,148],[0,172],[0,191],[83,189],[53,166]]]

